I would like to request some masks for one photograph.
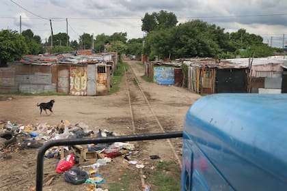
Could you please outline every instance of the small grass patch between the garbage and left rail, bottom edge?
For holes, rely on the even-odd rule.
[[[133,186],[133,183],[137,181],[137,177],[138,176],[133,171],[128,171],[120,177],[120,180],[110,184],[109,191],[128,190],[128,188]]]

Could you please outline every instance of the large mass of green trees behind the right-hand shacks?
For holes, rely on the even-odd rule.
[[[260,35],[245,29],[224,32],[216,25],[202,20],[191,20],[176,26],[176,15],[171,12],[146,13],[141,19],[141,31],[147,33],[143,54],[150,59],[176,59],[184,57],[267,57],[275,50],[263,43]],[[167,25],[168,23],[168,25]]]

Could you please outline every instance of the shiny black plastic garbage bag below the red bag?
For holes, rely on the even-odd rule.
[[[87,172],[82,171],[80,168],[74,167],[64,173],[66,182],[72,184],[81,184],[85,183],[85,180],[88,178]]]

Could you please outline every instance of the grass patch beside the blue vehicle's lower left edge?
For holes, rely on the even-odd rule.
[[[152,184],[155,191],[180,190],[180,168],[173,162],[159,162],[152,171]]]

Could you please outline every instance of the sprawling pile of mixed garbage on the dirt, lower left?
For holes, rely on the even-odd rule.
[[[44,142],[51,140],[116,135],[114,132],[100,130],[100,128],[96,131],[90,130],[85,123],[72,125],[66,120],[56,126],[51,126],[49,123],[24,125],[0,121],[0,153],[38,148]],[[99,174],[99,168],[108,165],[113,158],[122,156],[126,163],[134,165],[135,168],[144,168],[143,164],[138,164],[139,162],[131,159],[133,151],[135,151],[133,144],[122,142],[68,145],[50,148],[44,154],[44,158],[59,160],[55,172],[64,175],[68,183],[75,185],[87,183],[87,190],[100,191],[102,188],[99,185],[104,183],[105,179]],[[45,179],[44,186],[49,186],[53,179],[55,175]]]

